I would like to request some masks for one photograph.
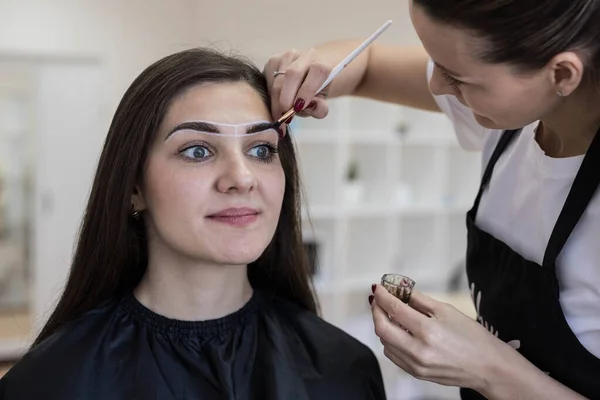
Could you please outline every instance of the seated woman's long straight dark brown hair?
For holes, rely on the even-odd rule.
[[[149,148],[173,100],[204,83],[245,82],[270,109],[261,71],[241,57],[209,49],[167,56],[144,70],[123,96],[104,144],[64,293],[34,346],[101,303],[131,292],[147,266],[143,218],[131,216]],[[248,266],[254,288],[316,312],[302,244],[300,190],[290,135],[280,141],[285,192],[273,240]]]

